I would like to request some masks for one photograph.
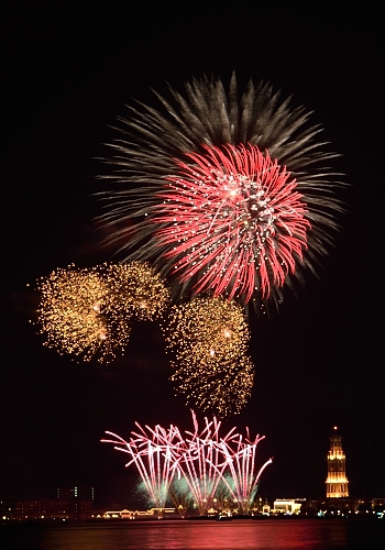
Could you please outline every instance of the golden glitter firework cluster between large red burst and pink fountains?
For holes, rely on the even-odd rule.
[[[163,331],[176,393],[219,417],[239,413],[254,381],[241,307],[223,298],[195,298],[173,307]]]

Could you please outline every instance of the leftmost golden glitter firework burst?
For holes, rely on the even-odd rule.
[[[107,363],[123,351],[130,326],[111,308],[111,294],[98,267],[58,268],[38,282],[40,332],[45,345]]]

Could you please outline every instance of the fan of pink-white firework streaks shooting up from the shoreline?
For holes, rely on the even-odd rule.
[[[127,466],[134,464],[141,476],[140,487],[144,487],[152,505],[163,508],[170,499],[185,515],[194,502],[200,515],[212,508],[221,512],[229,506],[249,514],[264,469],[272,462],[256,469],[256,446],[263,439],[244,439],[232,428],[220,435],[221,422],[216,417],[205,418],[200,431],[197,417],[193,413],[194,430],[184,437],[177,427],[164,429],[156,426],[131,432],[125,441],[120,436],[106,432],[112,439],[114,449],[129,454]]]

